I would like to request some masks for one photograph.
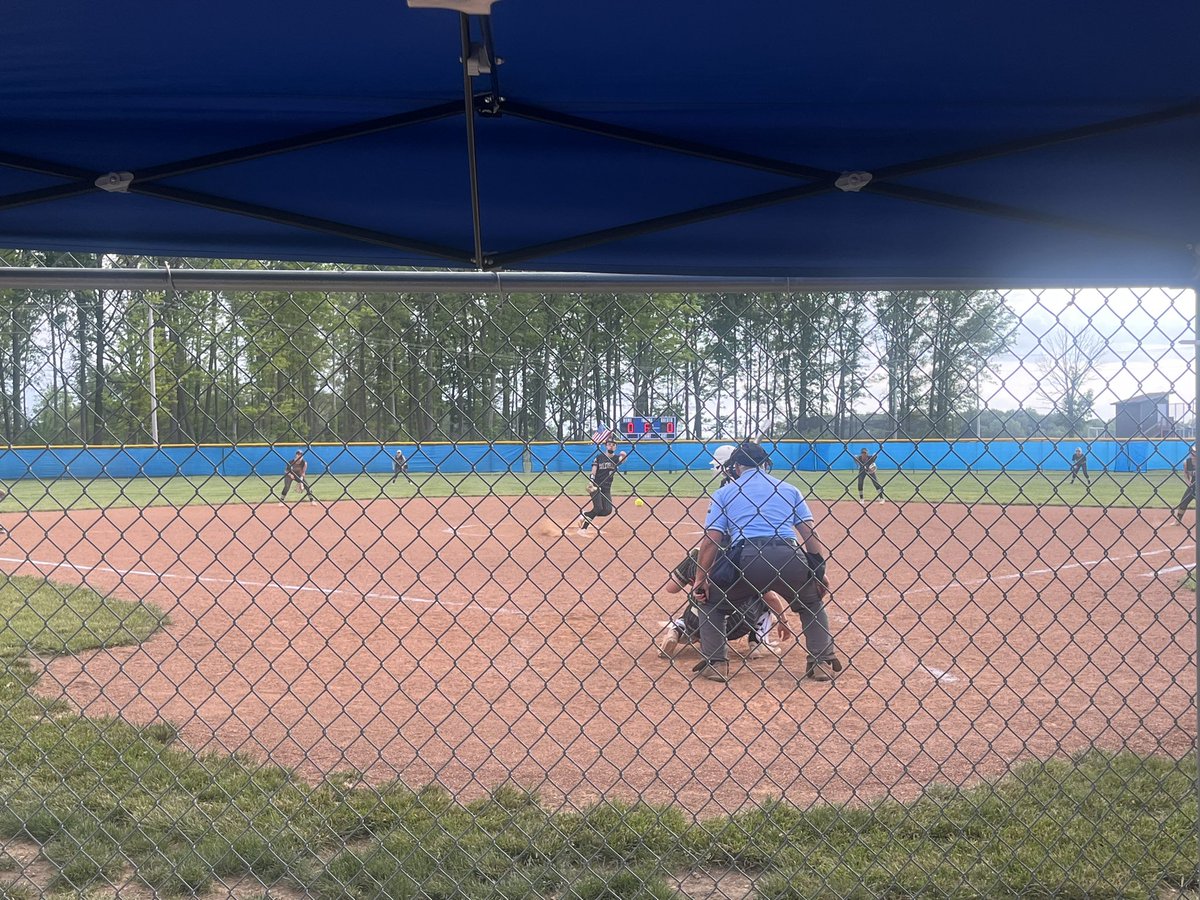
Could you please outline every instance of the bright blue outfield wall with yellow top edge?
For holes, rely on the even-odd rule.
[[[730,442],[643,442],[630,446],[626,472],[682,472],[707,469],[713,451]],[[880,450],[884,470],[935,469],[982,472],[1067,472],[1076,446],[1086,448],[1088,468],[1098,472],[1157,472],[1181,469],[1189,442],[1171,440],[884,440],[767,443],[776,470],[826,472],[854,469],[852,454],[862,448]],[[278,478],[283,463],[304,446],[311,475],[385,474],[391,457],[402,449],[410,472],[570,473],[587,469],[596,446],[589,443],[557,444],[497,442],[428,444],[211,444],[186,446],[37,446],[0,449],[0,480],[167,478],[172,475],[260,475]]]

